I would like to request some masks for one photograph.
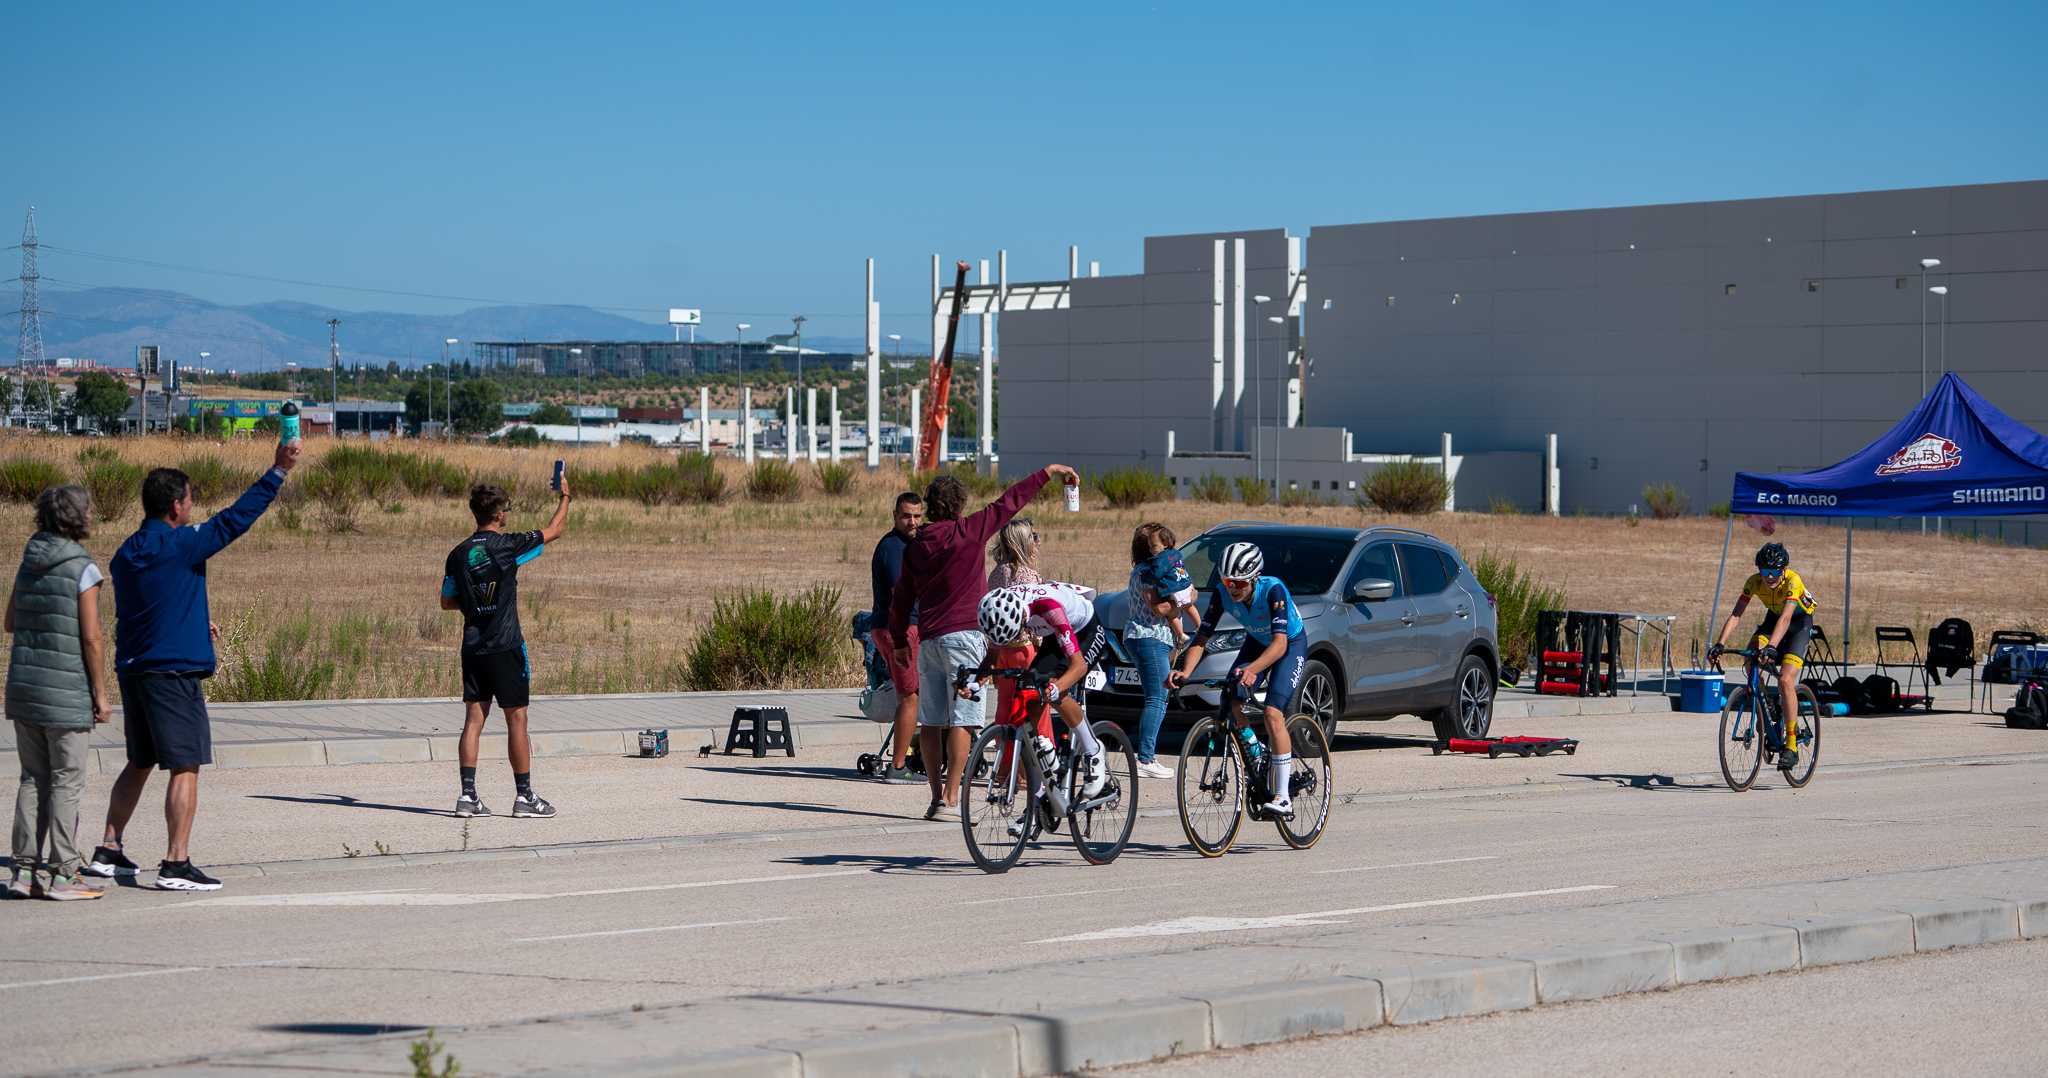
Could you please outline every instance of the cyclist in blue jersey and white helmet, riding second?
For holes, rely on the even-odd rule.
[[[1182,654],[1180,670],[1167,676],[1167,685],[1180,689],[1194,676],[1223,615],[1231,615],[1245,627],[1245,646],[1237,652],[1231,674],[1225,678],[1225,707],[1229,707],[1231,697],[1266,691],[1266,738],[1272,746],[1272,760],[1266,769],[1270,799],[1255,812],[1272,820],[1288,820],[1294,816],[1288,791],[1294,742],[1288,738],[1286,707],[1300,689],[1300,670],[1309,662],[1309,648],[1303,639],[1294,596],[1288,594],[1280,578],[1260,576],[1264,568],[1266,555],[1255,543],[1231,543],[1223,549],[1223,557],[1217,562],[1221,586],[1210,592],[1208,609],[1202,611],[1202,627],[1196,629],[1188,652]]]

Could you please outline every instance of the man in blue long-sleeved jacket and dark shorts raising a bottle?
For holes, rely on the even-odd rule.
[[[236,504],[193,525],[193,482],[158,467],[141,482],[143,523],[115,551],[115,676],[127,728],[127,769],[106,805],[106,838],[86,873],[135,875],[121,848],[150,771],[170,773],[164,824],[170,832],[156,885],[166,892],[217,892],[219,879],[193,867],[188,842],[199,812],[199,769],[213,762],[213,723],[205,680],[213,676],[213,621],[207,617],[207,559],[246,533],[299,463],[299,443],[276,447],[270,471]]]

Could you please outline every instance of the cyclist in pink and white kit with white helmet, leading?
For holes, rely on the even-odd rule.
[[[1102,758],[1102,742],[1087,725],[1081,703],[1087,699],[1087,670],[1102,658],[1108,637],[1096,623],[1094,592],[1079,584],[1014,584],[981,596],[981,631],[991,648],[1038,641],[1038,658],[1030,668],[1053,674],[1044,689],[1047,703],[1059,709],[1061,721],[1073,732],[1073,746],[1083,760],[1081,795],[1094,797],[1108,783],[1110,769]],[[971,693],[973,687],[963,689]],[[1040,760],[1053,758],[1049,738],[1032,738]]]

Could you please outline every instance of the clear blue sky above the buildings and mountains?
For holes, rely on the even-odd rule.
[[[1028,281],[1067,244],[1135,273],[1147,234],[2042,178],[2044,39],[2038,2],[35,4],[0,234],[37,203],[63,248],[717,336],[858,336],[874,256],[924,336],[934,250]]]

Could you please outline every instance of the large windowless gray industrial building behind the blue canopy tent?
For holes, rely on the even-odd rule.
[[[2048,428],[2048,180],[1163,236],[1145,273],[1065,285],[1001,309],[1006,471],[1163,467],[1167,432],[1243,467],[1262,426],[1327,426],[1360,457],[1452,434],[1536,461],[1509,492],[1530,504],[1554,432],[1561,508],[1661,482],[1706,508],[1737,469],[1890,428],[1921,396],[1923,309],[1927,385],[1946,353]]]

